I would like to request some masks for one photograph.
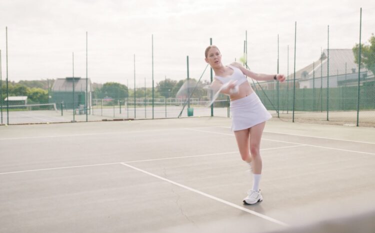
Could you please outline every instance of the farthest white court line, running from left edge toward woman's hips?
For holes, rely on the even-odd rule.
[[[215,127],[219,127],[219,126],[203,126],[203,127],[196,127],[196,128],[215,128]],[[136,133],[136,132],[156,132],[156,131],[181,130],[181,129],[185,129],[185,128],[160,128],[160,129],[119,131],[119,132],[97,132],[97,133],[79,133],[79,134],[50,135],[50,136],[7,137],[7,138],[0,138],[0,140],[36,139],[36,138],[71,137],[71,136],[92,136],[92,135],[107,135],[107,134],[120,134],[120,133]]]

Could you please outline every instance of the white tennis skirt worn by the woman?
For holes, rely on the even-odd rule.
[[[246,97],[230,101],[230,113],[232,131],[250,128],[272,118],[255,92]]]

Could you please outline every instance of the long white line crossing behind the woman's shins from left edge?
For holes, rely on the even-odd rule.
[[[282,148],[290,148],[290,147],[297,147],[297,146],[301,146],[301,145],[292,145],[292,146],[283,146],[283,147],[275,147],[275,148],[266,148],[266,149],[260,149],[260,150],[282,149]],[[165,157],[165,158],[154,158],[154,159],[144,159],[144,160],[133,160],[133,161],[126,161],[126,163],[147,162],[147,161],[168,160],[168,159],[179,159],[179,158],[203,157],[203,156],[210,156],[210,155],[230,154],[230,153],[239,153],[239,152],[238,151],[232,151],[232,152],[222,152],[222,153],[197,154],[197,155],[180,156],[180,157]],[[31,172],[31,171],[57,170],[57,169],[75,168],[75,167],[103,166],[103,165],[112,165],[112,164],[120,164],[120,163],[121,162],[111,162],[111,163],[98,163],[98,164],[89,164],[89,165],[77,165],[77,166],[62,166],[62,167],[42,168],[42,169],[33,169],[33,170],[19,170],[19,171],[1,172],[0,175],[1,174],[13,174],[13,173]]]

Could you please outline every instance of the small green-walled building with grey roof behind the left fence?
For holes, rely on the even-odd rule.
[[[74,87],[74,90],[73,90],[73,87]],[[57,78],[51,87],[49,101],[52,103],[56,103],[57,108],[60,108],[62,104],[64,108],[72,109],[73,103],[74,103],[74,108],[83,108],[86,104],[86,78],[80,78],[80,77]],[[91,80],[88,78],[87,79],[87,108],[90,108],[91,105],[92,105]]]

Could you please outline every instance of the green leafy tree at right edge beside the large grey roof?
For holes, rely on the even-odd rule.
[[[370,70],[375,74],[375,36],[372,33],[371,37],[368,39],[370,44],[361,44],[360,51],[360,65],[363,65],[366,69]],[[355,44],[352,48],[354,53],[354,62],[359,63],[359,44]]]

